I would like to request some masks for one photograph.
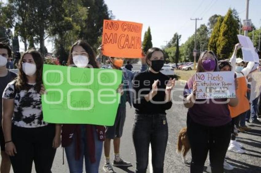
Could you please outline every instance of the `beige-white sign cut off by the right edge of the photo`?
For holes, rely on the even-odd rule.
[[[255,100],[255,98],[259,97],[261,90],[261,72],[253,72],[251,73],[251,94],[250,94],[250,102]]]

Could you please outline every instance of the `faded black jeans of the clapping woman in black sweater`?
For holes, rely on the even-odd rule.
[[[135,114],[132,138],[136,151],[136,173],[146,173],[151,144],[154,173],[163,173],[168,141],[168,123],[164,114]]]

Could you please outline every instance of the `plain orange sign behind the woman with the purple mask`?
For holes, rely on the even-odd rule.
[[[239,116],[241,113],[250,109],[249,101],[247,99],[247,82],[245,77],[237,78],[238,87],[236,90],[236,97],[238,98],[238,105],[231,107],[228,105],[230,115],[232,118]]]

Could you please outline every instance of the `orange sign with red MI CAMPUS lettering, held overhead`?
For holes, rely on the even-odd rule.
[[[141,58],[142,24],[103,20],[103,55],[108,57]]]

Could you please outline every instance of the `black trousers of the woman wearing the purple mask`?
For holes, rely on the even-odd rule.
[[[224,172],[223,164],[231,138],[231,122],[208,127],[195,123],[188,115],[187,134],[191,146],[191,173],[202,173],[209,151],[212,173]]]

